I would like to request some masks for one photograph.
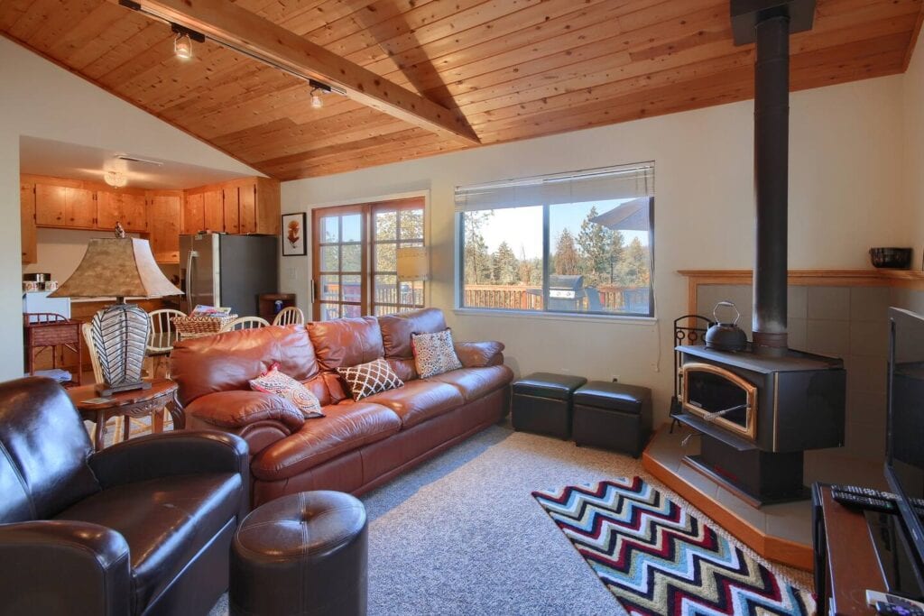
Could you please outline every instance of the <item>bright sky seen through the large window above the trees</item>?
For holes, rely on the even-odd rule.
[[[555,240],[561,235],[565,227],[576,237],[580,231],[580,223],[584,222],[587,214],[594,205],[597,212],[610,211],[617,205],[632,199],[614,199],[609,201],[590,201],[587,203],[564,203],[553,205],[549,214],[549,240],[552,250]],[[623,231],[626,246],[635,237],[642,246],[648,246],[648,232]],[[541,258],[542,256],[542,208],[533,206],[528,208],[509,208],[495,210],[488,223],[481,229],[488,250],[493,252],[505,241],[513,248],[517,259],[522,259],[524,253],[527,259]]]

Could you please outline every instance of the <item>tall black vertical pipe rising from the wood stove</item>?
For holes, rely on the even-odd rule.
[[[786,236],[789,190],[789,14],[761,11],[754,26],[754,350],[783,352],[786,341]]]

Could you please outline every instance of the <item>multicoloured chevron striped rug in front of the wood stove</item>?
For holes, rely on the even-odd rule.
[[[633,616],[814,614],[814,597],[640,477],[535,491]]]

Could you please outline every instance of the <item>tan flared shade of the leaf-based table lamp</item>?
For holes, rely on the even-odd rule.
[[[52,297],[179,296],[157,266],[146,239],[134,237],[91,239],[83,260]]]

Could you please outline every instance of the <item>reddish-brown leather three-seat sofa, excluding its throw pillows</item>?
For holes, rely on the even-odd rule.
[[[417,378],[411,333],[445,327],[443,313],[426,308],[226,332],[177,343],[171,375],[187,428],[248,441],[254,506],[310,489],[359,494],[506,415],[513,372],[501,343],[456,343],[463,368]],[[378,357],[405,386],[354,402],[336,368]],[[326,417],[306,420],[279,396],[250,391],[248,380],[274,362],[318,396]]]

